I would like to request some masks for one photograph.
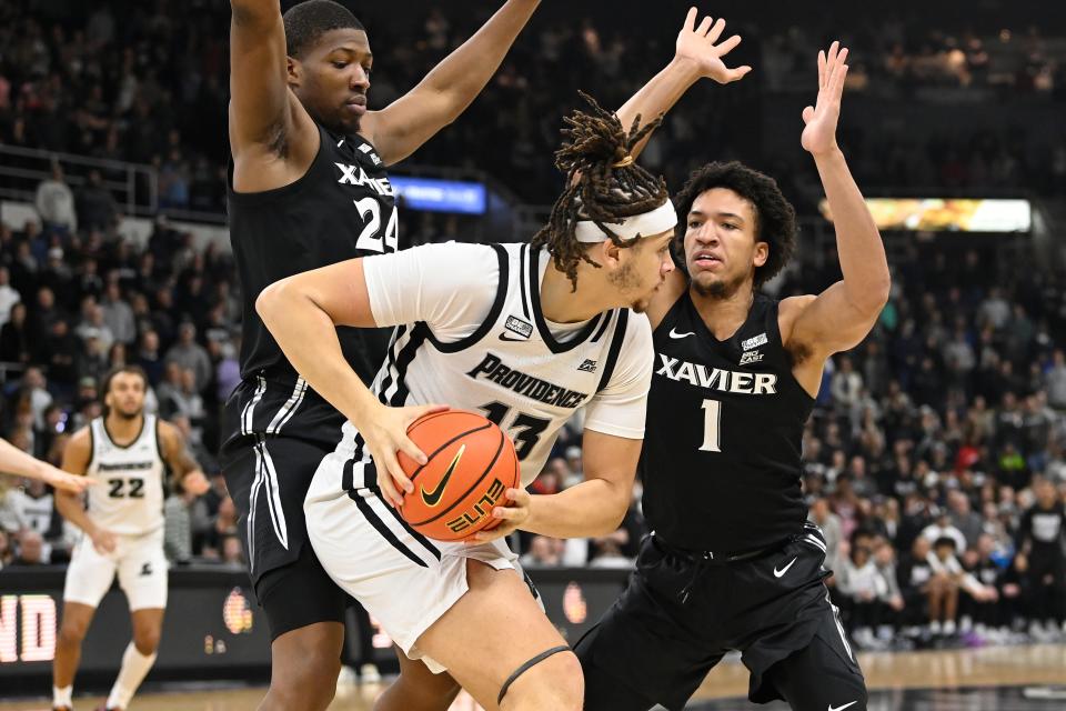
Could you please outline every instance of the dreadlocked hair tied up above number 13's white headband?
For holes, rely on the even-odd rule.
[[[583,91],[581,98],[592,112],[574,110],[563,121],[563,147],[555,151],[555,167],[566,176],[566,189],[552,206],[547,224],[533,236],[534,248],[546,247],[555,268],[564,272],[577,290],[577,264],[585,261],[600,268],[577,241],[580,220],[592,220],[617,247],[632,247],[644,236],[625,240],[614,233],[610,223],[650,212],[670,199],[666,181],[655,178],[633,162],[631,151],[654,131],[663,117],[641,126],[641,116],[633,119],[628,132],[619,117],[605,111]],[[628,159],[628,160],[627,160]]]

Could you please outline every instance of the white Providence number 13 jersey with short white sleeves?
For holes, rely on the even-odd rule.
[[[395,320],[418,316],[418,309],[442,314],[436,324],[420,320],[396,328],[372,387],[382,402],[438,402],[485,415],[514,441],[523,485],[541,472],[560,428],[580,408],[587,408],[589,429],[643,437],[653,359],[646,317],[616,309],[553,328],[540,304],[550,257],[529,244],[415,248],[388,257],[398,267],[378,262],[388,264],[380,271],[370,264],[378,259],[364,261],[364,273],[379,324],[390,322],[385,313]],[[406,307],[418,304],[415,290],[430,303]],[[449,303],[433,303],[441,299]],[[370,454],[351,422],[343,435],[338,451],[351,452],[355,465],[342,488],[374,485]]]

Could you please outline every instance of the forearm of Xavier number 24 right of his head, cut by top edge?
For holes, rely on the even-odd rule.
[[[421,88],[449,98],[450,123],[481,93],[536,10],[540,0],[507,0],[469,40],[422,80]]]

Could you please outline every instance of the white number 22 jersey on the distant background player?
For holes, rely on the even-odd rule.
[[[144,415],[140,434],[129,445],[111,440],[103,418],[89,423],[92,461],[86,473],[99,483],[88,490],[87,512],[112,533],[143,535],[163,528],[163,464],[157,419]]]

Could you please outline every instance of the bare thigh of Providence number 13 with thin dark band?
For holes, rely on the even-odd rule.
[[[563,693],[566,687],[580,689],[581,668],[570,651],[547,657],[511,679],[542,652],[566,642],[516,571],[470,559],[465,564],[466,593],[419,637],[419,651],[445,667],[487,709],[496,707],[509,680],[511,694],[544,684]]]

